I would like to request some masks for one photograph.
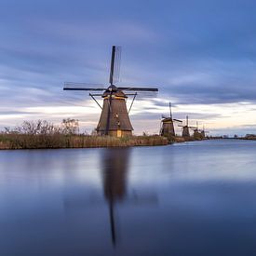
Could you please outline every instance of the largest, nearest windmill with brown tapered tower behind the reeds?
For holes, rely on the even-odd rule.
[[[89,93],[101,108],[101,117],[96,128],[98,135],[110,135],[123,137],[132,135],[132,125],[129,120],[129,111],[138,93],[156,92],[158,88],[134,88],[116,87],[120,72],[121,47],[112,47],[112,58],[108,88],[92,88],[83,83],[64,83],[64,90],[98,91],[100,93]],[[128,93],[128,92],[132,93]],[[96,96],[103,98],[103,105],[96,100]],[[127,108],[128,96],[133,96],[129,109]]]

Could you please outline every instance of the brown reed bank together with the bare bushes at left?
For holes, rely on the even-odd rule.
[[[116,138],[79,134],[74,119],[63,119],[61,126],[46,120],[24,121],[20,127],[6,128],[0,133],[0,149],[94,148],[167,145],[158,135]]]

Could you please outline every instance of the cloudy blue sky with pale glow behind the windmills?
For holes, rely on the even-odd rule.
[[[117,85],[159,88],[134,102],[136,134],[157,133],[169,101],[211,135],[256,133],[255,13],[250,0],[0,0],[0,128],[71,117],[89,133],[101,109],[63,82],[107,87],[117,45]]]

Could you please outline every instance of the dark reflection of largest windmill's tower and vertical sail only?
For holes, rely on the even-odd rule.
[[[109,206],[112,242],[115,246],[115,204],[124,200],[127,193],[129,148],[108,149],[102,155],[102,182]]]

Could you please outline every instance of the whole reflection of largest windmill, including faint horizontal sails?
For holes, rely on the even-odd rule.
[[[129,158],[132,148],[111,148],[101,150],[101,180],[104,199],[109,209],[110,231],[112,243],[115,246],[118,236],[116,235],[115,207],[117,203],[125,203],[129,206],[149,206],[157,204],[155,193],[137,195],[135,191],[128,194],[128,169]],[[88,206],[102,204],[101,198],[85,194],[64,196],[64,209],[87,209]]]

